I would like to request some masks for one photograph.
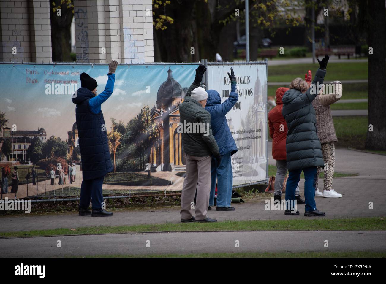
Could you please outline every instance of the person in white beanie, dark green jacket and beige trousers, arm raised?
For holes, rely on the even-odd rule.
[[[196,77],[188,89],[183,103],[179,105],[182,142],[186,156],[186,176],[181,193],[181,222],[215,222],[208,218],[209,194],[211,185],[210,166],[212,155],[220,164],[221,156],[217,142],[210,126],[210,113],[205,110],[208,93],[200,87],[202,77],[207,68],[200,64],[196,69]],[[186,127],[185,127],[186,126]],[[200,128],[201,126],[201,128]],[[193,130],[200,131],[193,131]],[[195,193],[197,189],[196,216],[192,215]]]

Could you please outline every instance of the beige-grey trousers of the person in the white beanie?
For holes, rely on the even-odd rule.
[[[196,221],[207,218],[209,206],[209,194],[212,178],[210,176],[211,156],[191,156],[185,154],[186,176],[181,193],[181,219],[190,219],[193,216],[193,208],[196,211]],[[194,197],[197,197],[194,204]]]

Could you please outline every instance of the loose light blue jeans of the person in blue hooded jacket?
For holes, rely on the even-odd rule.
[[[217,207],[230,207],[232,199],[233,172],[230,161],[230,153],[221,156],[220,166],[212,157],[210,174],[212,176],[212,186],[210,188],[209,205],[213,206],[215,202],[216,177],[217,177]]]

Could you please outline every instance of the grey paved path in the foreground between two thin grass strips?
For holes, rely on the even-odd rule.
[[[59,248],[57,247],[58,240],[61,241]],[[292,240],[293,244],[288,243],[288,240]],[[326,240],[328,247],[325,247]],[[384,252],[386,250],[385,240],[386,232],[125,233],[0,239],[0,249],[2,257],[358,250]],[[238,247],[236,247],[237,241]]]

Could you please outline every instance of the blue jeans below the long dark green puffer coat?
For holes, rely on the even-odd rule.
[[[295,171],[289,171],[287,188],[286,188],[286,200],[295,200],[295,189],[300,181],[301,171],[304,172],[304,197],[306,199],[305,211],[315,211],[315,175],[317,167],[306,167],[304,169],[298,169]],[[294,201],[296,202],[296,201]],[[288,201],[286,202],[288,204]],[[290,208],[288,208],[290,210]]]

